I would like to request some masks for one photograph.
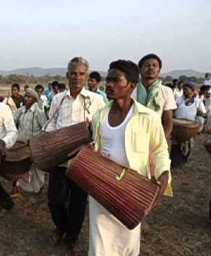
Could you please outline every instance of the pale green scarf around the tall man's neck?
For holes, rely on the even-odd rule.
[[[147,92],[145,87],[143,86],[141,80],[137,85],[137,101],[140,104],[153,109],[154,111],[160,110],[160,99],[161,95],[161,86],[162,82],[160,79],[157,79],[151,86],[149,91]]]

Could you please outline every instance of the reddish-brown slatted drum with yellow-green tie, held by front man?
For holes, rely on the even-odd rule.
[[[150,213],[160,186],[93,152],[88,147],[71,161],[66,175],[112,213],[128,229]]]

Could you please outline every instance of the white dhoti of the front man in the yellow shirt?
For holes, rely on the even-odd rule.
[[[89,196],[89,256],[137,256],[140,225],[130,230]]]

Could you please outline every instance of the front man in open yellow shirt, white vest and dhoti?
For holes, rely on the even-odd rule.
[[[160,117],[131,98],[138,78],[139,69],[135,63],[118,60],[110,64],[106,92],[113,101],[93,117],[95,150],[151,178],[148,168],[151,144],[155,176],[162,186],[160,195],[166,190],[170,196],[170,160]],[[140,225],[133,230],[127,229],[92,197],[89,197],[89,218],[89,256],[139,255]]]

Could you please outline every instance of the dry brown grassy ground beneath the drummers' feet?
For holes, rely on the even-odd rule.
[[[197,137],[186,167],[174,170],[174,197],[166,197],[146,218],[140,255],[211,255],[211,227],[208,223],[211,156],[203,147],[207,136]],[[11,184],[0,180],[10,191]],[[53,245],[54,225],[46,199],[47,180],[46,176],[42,193],[22,192],[13,210],[0,210],[0,256],[87,255],[87,215],[74,254],[69,253],[64,245]]]

